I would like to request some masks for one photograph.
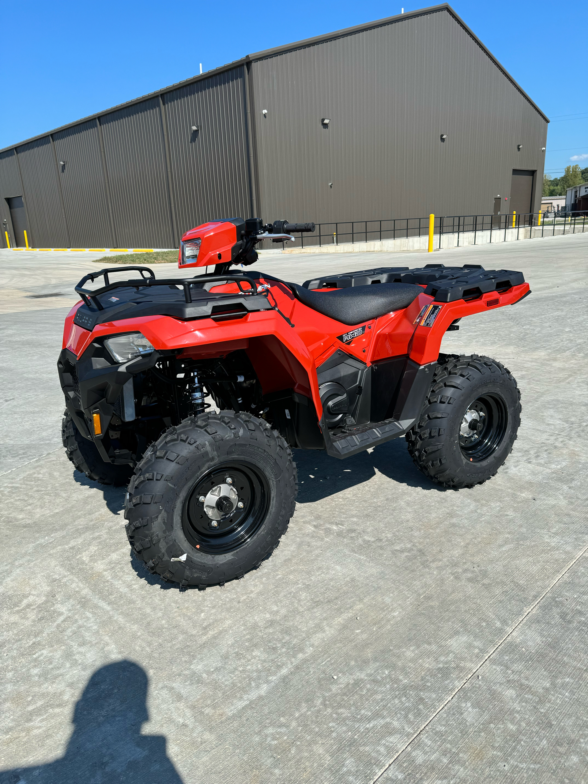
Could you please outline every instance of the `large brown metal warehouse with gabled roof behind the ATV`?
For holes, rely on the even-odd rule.
[[[437,5],[248,55],[5,148],[2,225],[21,247],[26,229],[31,247],[172,248],[232,216],[481,215],[499,195],[531,212],[548,122]]]

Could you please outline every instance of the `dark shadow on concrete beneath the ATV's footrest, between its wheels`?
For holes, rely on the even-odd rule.
[[[297,503],[313,503],[329,495],[356,488],[376,475],[376,472],[412,488],[446,492],[417,470],[406,450],[404,438],[388,441],[372,452],[360,452],[354,457],[338,460],[326,452],[295,449],[298,469]]]

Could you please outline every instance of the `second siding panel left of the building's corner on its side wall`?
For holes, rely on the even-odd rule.
[[[114,230],[122,247],[172,248],[159,100],[101,118]]]

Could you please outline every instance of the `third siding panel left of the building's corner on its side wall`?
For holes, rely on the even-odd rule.
[[[65,209],[74,247],[99,247],[114,243],[96,121],[91,120],[53,134]],[[63,171],[62,171],[63,169]]]

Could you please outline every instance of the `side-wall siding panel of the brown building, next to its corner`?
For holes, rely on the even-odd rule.
[[[163,96],[180,235],[207,220],[249,217],[243,80],[239,67]]]

